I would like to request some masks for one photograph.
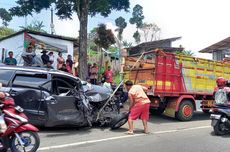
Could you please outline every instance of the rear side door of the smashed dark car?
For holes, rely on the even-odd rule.
[[[31,123],[43,125],[46,121],[46,107],[43,102],[47,92],[40,85],[48,81],[46,73],[17,71],[11,83],[11,96],[21,106]]]

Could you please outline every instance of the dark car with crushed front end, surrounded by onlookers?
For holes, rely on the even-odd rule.
[[[111,126],[127,121],[106,88],[45,68],[0,66],[0,91],[9,92],[37,126]]]

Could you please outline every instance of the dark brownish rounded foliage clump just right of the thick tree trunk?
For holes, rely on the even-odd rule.
[[[97,28],[97,37],[95,43],[104,49],[108,49],[112,44],[115,44],[114,34],[110,29],[106,29],[105,24],[100,24]]]

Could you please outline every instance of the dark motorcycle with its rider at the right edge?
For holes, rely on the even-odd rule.
[[[210,115],[215,135],[224,135],[230,132],[230,83],[226,82],[224,87],[215,89],[215,105],[211,109]]]

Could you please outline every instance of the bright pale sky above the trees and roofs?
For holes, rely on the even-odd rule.
[[[198,57],[210,58],[206,54],[197,52],[213,43],[230,36],[230,1],[229,0],[130,0],[130,12],[112,12],[104,18],[97,15],[89,18],[88,30],[100,23],[105,23],[108,28],[116,28],[114,20],[122,16],[129,20],[132,8],[136,4],[143,7],[144,22],[155,23],[161,28],[161,38],[181,36],[174,46],[182,45],[186,50],[192,50]],[[0,7],[10,8],[15,5],[15,0],[0,0]],[[59,20],[55,16],[55,31],[58,35],[77,37],[79,21],[76,14],[73,20]],[[42,11],[27,17],[27,23],[33,20],[43,21],[45,29],[50,31],[50,10]],[[19,29],[24,25],[24,18],[13,18],[10,27]],[[128,24],[124,30],[124,39],[134,42],[132,38],[136,28]]]

